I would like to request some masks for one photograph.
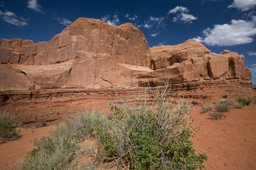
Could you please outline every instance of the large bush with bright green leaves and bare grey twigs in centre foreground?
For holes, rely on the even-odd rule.
[[[206,154],[196,154],[190,137],[191,105],[178,101],[174,111],[166,105],[166,89],[151,91],[156,103],[111,106],[114,119],[95,128],[101,151],[98,160],[129,169],[203,168]],[[100,158],[100,159],[99,159]]]

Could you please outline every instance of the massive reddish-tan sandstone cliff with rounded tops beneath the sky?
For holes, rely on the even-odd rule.
[[[238,79],[250,84],[245,57],[213,55],[195,40],[149,48],[132,23],[78,18],[49,42],[1,39],[0,89],[137,87]]]

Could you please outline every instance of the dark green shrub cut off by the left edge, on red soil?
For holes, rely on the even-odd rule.
[[[16,140],[20,131],[16,130],[17,120],[8,111],[0,113],[0,142]]]

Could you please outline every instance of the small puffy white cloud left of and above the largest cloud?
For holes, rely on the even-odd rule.
[[[177,16],[173,18],[174,22],[181,21],[183,23],[192,23],[193,20],[197,20],[196,16],[188,14],[188,8],[183,6],[176,6],[175,8],[171,9],[167,14],[171,13],[178,13]]]

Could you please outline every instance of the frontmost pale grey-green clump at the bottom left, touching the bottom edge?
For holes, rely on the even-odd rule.
[[[23,159],[20,169],[74,169],[78,164],[78,139],[67,132],[66,127],[59,127],[50,136],[35,140],[36,148]]]

